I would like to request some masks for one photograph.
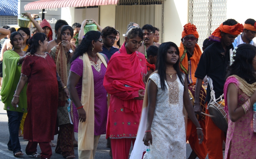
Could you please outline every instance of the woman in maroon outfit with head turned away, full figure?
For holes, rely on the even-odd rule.
[[[47,49],[47,38],[44,33],[36,33],[28,41],[32,56],[22,63],[20,81],[12,99],[13,107],[18,107],[19,94],[28,82],[27,100],[28,115],[24,123],[24,139],[28,139],[26,154],[36,152],[37,143],[41,148],[41,159],[52,156],[49,144],[54,137],[58,106],[58,83],[56,65]],[[34,155],[33,155],[34,156]],[[34,157],[39,158],[38,155]]]

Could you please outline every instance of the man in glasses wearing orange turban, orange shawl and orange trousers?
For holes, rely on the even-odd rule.
[[[196,85],[195,72],[202,54],[200,47],[197,45],[198,37],[199,35],[196,31],[195,25],[190,23],[184,25],[179,47],[180,70],[187,75],[189,86]],[[199,121],[199,123],[205,136],[205,119]],[[187,121],[186,141],[189,141],[192,148],[189,159],[195,159],[196,157],[205,159],[207,155],[205,145],[206,140],[204,138],[203,143],[199,144],[196,134],[196,126],[193,124],[191,119],[188,119]]]

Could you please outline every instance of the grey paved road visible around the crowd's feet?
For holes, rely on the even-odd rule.
[[[9,151],[7,149],[7,143],[9,141],[8,118],[7,118],[7,113],[3,108],[4,108],[4,104],[0,100],[0,159],[13,159],[13,158],[17,159],[17,157],[13,156],[12,151]],[[77,139],[77,133],[75,133],[75,136]],[[107,141],[105,138],[106,138],[106,135],[101,135],[99,145],[97,148],[97,152],[95,155],[95,159],[110,159],[110,156],[108,155],[109,148],[106,148]],[[24,141],[22,139],[22,137],[20,137],[20,145],[21,145],[21,150],[23,153],[25,153],[27,143],[28,143],[28,141]],[[53,143],[55,143],[55,144],[57,143],[57,135],[54,136]],[[56,154],[54,150],[55,150],[55,148],[52,148],[51,159],[63,158],[62,155]],[[37,151],[41,152],[39,145],[37,146]],[[190,153],[191,153],[191,148],[190,148],[189,144],[187,144],[187,158]],[[77,148],[75,148],[75,156],[76,156],[76,159],[78,159]],[[32,156],[28,156],[28,155],[24,154],[23,156],[20,156],[18,158],[32,159]],[[208,159],[208,157],[207,157],[207,159]]]

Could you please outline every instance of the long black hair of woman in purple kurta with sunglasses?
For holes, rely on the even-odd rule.
[[[92,50],[92,40],[98,40],[101,36],[99,31],[89,31],[84,35],[81,43],[76,47],[73,57],[70,60],[70,63],[76,60],[77,57],[83,55],[88,50]]]

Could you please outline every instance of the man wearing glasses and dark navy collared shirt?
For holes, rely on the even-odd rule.
[[[110,60],[111,56],[118,51],[119,49],[113,47],[115,40],[116,40],[117,31],[115,28],[107,26],[105,27],[102,32],[102,40],[103,40],[103,47],[102,47],[102,54],[105,54]]]

